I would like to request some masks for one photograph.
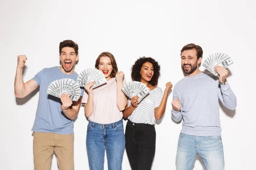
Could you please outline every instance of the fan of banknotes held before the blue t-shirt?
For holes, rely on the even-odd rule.
[[[73,79],[59,79],[53,81],[47,88],[47,94],[61,98],[61,94],[67,94],[72,101],[80,98],[79,84]]]

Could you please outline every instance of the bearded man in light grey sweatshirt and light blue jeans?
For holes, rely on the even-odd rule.
[[[198,65],[203,50],[199,45],[185,45],[180,52],[186,77],[177,82],[173,91],[172,118],[177,122],[183,119],[176,170],[191,170],[197,154],[206,170],[224,170],[218,99],[226,108],[236,108],[236,96],[227,82],[228,71],[216,66],[218,77],[201,72]]]

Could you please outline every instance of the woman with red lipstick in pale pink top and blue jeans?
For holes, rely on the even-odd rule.
[[[102,71],[107,83],[91,88],[94,82],[84,87],[84,113],[89,119],[86,148],[90,170],[103,170],[105,150],[109,170],[121,170],[125,150],[122,111],[127,98],[121,91],[124,74],[118,72],[116,60],[109,52],[96,59],[95,68]]]

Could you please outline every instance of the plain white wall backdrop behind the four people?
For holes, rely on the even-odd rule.
[[[158,86],[184,77],[180,49],[201,45],[209,54],[230,55],[228,81],[237,96],[235,111],[220,108],[226,170],[251,170],[256,162],[255,46],[256,2],[253,0],[0,0],[0,169],[32,170],[32,125],[38,91],[24,99],[14,95],[17,55],[27,56],[24,81],[43,68],[59,65],[58,45],[67,39],[79,45],[75,71],[93,68],[98,55],[111,52],[119,70],[131,80],[137,58],[153,57],[161,65]],[[249,65],[250,63],[250,65]],[[201,71],[205,68],[200,67]],[[156,153],[152,170],[175,169],[181,123],[171,119],[172,91],[166,112],[155,125]],[[85,146],[87,120],[83,107],[75,121],[75,169],[88,170]],[[124,122],[124,126],[126,122]],[[123,170],[130,170],[126,153]],[[52,170],[57,170],[55,156]],[[105,169],[107,160],[105,159]],[[201,159],[194,170],[203,170]]]

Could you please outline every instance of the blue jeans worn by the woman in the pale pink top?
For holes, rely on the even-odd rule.
[[[90,170],[103,170],[105,149],[109,170],[122,170],[125,135],[122,119],[111,124],[89,121],[86,149]]]

